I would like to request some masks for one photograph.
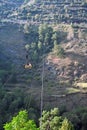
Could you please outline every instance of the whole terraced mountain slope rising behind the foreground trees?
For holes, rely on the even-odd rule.
[[[2,108],[0,113],[5,112],[1,116],[3,118],[0,123],[2,124],[4,119],[10,119],[11,114],[21,108],[29,110],[32,107],[35,111],[38,109],[36,112],[39,113],[42,82],[43,109],[59,107],[61,111],[69,112],[79,107],[86,107],[86,3],[84,4],[82,0],[26,0],[23,3],[2,0],[0,2],[2,2],[1,19],[7,19],[8,22],[0,26],[0,88],[3,88],[7,95],[0,103]],[[10,23],[11,21],[13,23]],[[21,21],[24,26],[19,25]],[[42,27],[43,35],[41,30],[36,32],[39,30],[39,26],[36,25],[41,23],[49,23],[47,26],[50,27],[48,30]],[[44,53],[46,51],[44,59],[41,36],[44,37],[42,45],[47,41],[44,45],[46,49],[44,49]],[[54,53],[53,36],[56,44],[64,50],[62,58]],[[24,68],[26,44],[30,47],[29,58],[32,60],[29,62],[33,66],[32,69]]]

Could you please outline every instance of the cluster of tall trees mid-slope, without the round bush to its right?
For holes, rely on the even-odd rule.
[[[43,53],[49,52],[53,47],[53,28],[47,24],[42,24],[39,27],[33,25],[25,25],[27,27],[28,33],[24,35],[27,37],[26,41],[29,44],[25,45],[28,51],[30,61],[37,64]]]

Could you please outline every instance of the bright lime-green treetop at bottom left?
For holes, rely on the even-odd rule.
[[[28,120],[26,110],[20,111],[12,121],[4,125],[4,130],[39,130],[33,120]]]

